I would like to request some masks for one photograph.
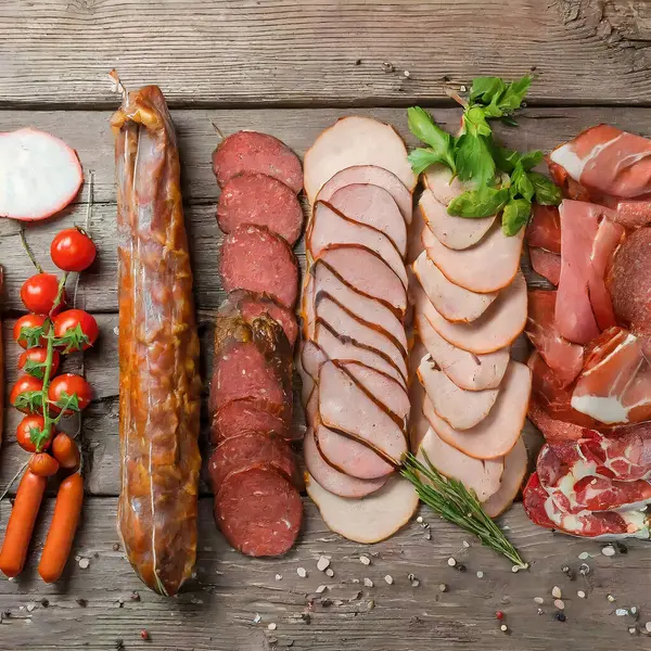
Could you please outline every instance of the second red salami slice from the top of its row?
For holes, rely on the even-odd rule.
[[[225,233],[242,224],[265,226],[293,246],[301,237],[303,209],[294,191],[264,174],[230,179],[219,195],[217,222]]]

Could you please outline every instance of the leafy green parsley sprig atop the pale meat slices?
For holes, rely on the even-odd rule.
[[[429,145],[409,154],[413,171],[421,174],[435,164],[449,167],[452,177],[470,182],[474,189],[454,199],[448,213],[472,219],[502,212],[502,230],[507,235],[514,235],[526,225],[532,202],[541,205],[561,202],[559,188],[546,176],[533,171],[542,161],[542,152],[520,154],[498,146],[489,125],[489,120],[500,119],[516,126],[513,114],[522,106],[532,79],[529,75],[511,82],[499,77],[474,79],[458,137],[438,127],[420,106],[407,111],[409,130]]]

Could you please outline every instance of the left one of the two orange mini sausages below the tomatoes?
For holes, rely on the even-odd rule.
[[[27,548],[47,484],[47,477],[39,477],[28,470],[18,485],[0,551],[0,571],[10,578],[21,574],[25,566]]]

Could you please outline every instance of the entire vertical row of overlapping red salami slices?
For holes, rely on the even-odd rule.
[[[232,547],[279,556],[303,520],[303,477],[291,447],[294,306],[303,230],[296,155],[271,136],[239,131],[213,155],[221,187],[219,257],[229,293],[215,323],[208,470],[215,520]]]

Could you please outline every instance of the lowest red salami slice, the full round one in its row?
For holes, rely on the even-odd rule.
[[[252,557],[285,553],[303,520],[301,495],[270,468],[232,473],[215,498],[215,521],[238,551]]]

